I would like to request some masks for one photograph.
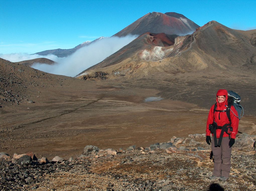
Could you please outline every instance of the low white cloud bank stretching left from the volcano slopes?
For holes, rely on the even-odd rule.
[[[0,57],[10,62],[19,62],[41,57],[48,58],[58,64],[48,65],[36,63],[31,67],[51,74],[74,77],[83,70],[103,61],[106,57],[129,44],[135,38],[137,38],[137,36],[103,38],[63,58],[55,55],[41,56],[37,54],[0,54]]]

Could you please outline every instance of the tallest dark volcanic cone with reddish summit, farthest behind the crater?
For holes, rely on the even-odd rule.
[[[198,27],[200,26],[182,14],[152,12],[139,18],[114,36],[122,37],[128,34],[139,36],[146,32],[186,35],[193,33]]]

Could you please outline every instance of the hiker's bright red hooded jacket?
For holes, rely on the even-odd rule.
[[[219,103],[217,97],[218,96],[225,96],[226,100],[224,102]],[[217,108],[216,110],[226,110],[228,105],[228,91],[227,90],[218,90],[216,94],[216,101],[217,101]],[[214,104],[215,105],[215,104]],[[209,124],[212,124],[214,121],[217,123],[218,126],[223,126],[225,124],[229,124],[228,116],[226,112],[214,112],[214,105],[211,106],[211,109],[208,114],[207,124],[206,124],[206,136],[210,136],[211,132],[209,130]],[[234,106],[231,106],[231,110],[234,112],[235,115],[238,116],[238,113]],[[239,119],[230,111],[230,119],[231,119],[231,126],[233,128],[233,132],[231,133],[231,138],[235,139],[237,132],[238,132],[238,123]],[[220,118],[220,119],[219,119]],[[220,137],[221,129],[216,129],[217,138]],[[213,134],[212,134],[213,136]],[[223,137],[228,137],[229,135],[224,132]]]

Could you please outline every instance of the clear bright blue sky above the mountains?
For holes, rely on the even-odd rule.
[[[216,20],[256,29],[256,1],[0,0],[0,54],[69,49],[110,37],[150,12],[183,14],[199,26]]]

